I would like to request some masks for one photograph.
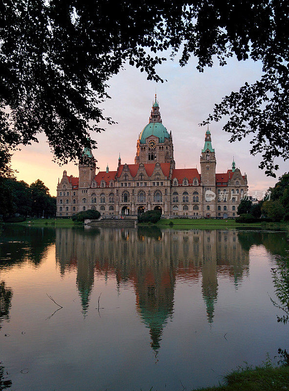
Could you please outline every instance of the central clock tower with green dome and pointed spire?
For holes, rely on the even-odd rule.
[[[137,141],[135,163],[172,163],[174,162],[174,147],[171,132],[162,124],[157,95],[153,102],[149,122],[142,130]]]

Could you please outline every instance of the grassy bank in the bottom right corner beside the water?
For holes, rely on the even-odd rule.
[[[289,367],[267,367],[236,371],[225,376],[225,385],[223,386],[198,389],[198,391],[265,390],[289,390]]]

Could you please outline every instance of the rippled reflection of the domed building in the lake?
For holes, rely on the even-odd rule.
[[[158,351],[163,328],[173,317],[174,289],[178,280],[202,282],[206,316],[213,322],[218,276],[235,286],[248,273],[248,251],[233,231],[161,231],[109,229],[83,231],[56,229],[56,255],[61,272],[77,268],[77,286],[83,313],[87,311],[94,271],[131,283],[136,308],[149,328],[151,346]]]

